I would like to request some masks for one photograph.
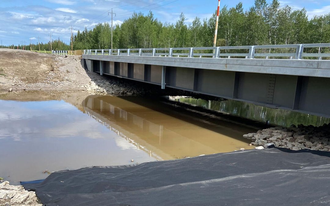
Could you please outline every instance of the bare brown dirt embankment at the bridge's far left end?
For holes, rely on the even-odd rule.
[[[86,90],[101,76],[88,73],[79,56],[0,49],[0,90]]]

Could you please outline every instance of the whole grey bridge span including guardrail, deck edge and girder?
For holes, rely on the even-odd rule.
[[[89,71],[330,117],[330,44],[84,50]]]

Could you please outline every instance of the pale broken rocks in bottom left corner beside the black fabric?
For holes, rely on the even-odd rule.
[[[42,206],[38,203],[35,192],[26,191],[21,185],[10,185],[8,181],[0,184],[0,205]]]

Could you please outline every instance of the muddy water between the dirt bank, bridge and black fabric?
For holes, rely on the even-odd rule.
[[[14,184],[46,169],[251,149],[242,135],[258,129],[166,99],[26,91],[1,94],[0,105],[0,176]]]

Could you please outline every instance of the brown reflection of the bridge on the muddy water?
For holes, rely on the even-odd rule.
[[[117,97],[89,96],[82,106],[80,110],[157,159],[233,151],[247,145],[242,138],[246,131],[220,125],[211,126],[217,127],[212,131]]]

